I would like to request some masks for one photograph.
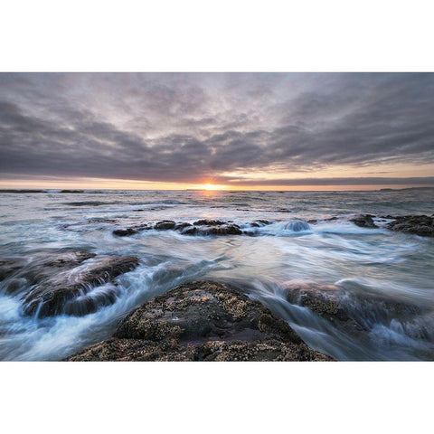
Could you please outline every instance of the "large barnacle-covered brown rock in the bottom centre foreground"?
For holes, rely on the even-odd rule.
[[[227,284],[181,285],[137,307],[113,338],[71,361],[329,361],[282,319]]]

